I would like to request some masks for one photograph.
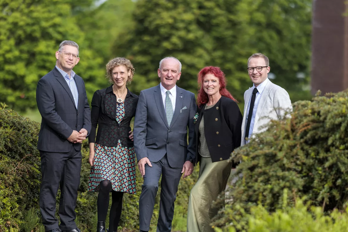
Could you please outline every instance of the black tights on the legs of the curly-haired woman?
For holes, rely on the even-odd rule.
[[[112,190],[110,180],[102,180],[99,184],[99,194],[97,200],[98,222],[105,222],[109,208],[109,194]],[[123,192],[112,191],[112,204],[110,209],[109,232],[117,231],[122,212]]]

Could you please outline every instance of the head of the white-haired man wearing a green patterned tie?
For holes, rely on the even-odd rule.
[[[158,77],[161,78],[161,84],[166,90],[172,89],[176,81],[180,79],[180,64],[173,58],[165,59],[161,67],[157,70]]]

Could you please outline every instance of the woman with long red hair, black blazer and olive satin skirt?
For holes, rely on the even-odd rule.
[[[205,67],[198,73],[198,113],[194,118],[199,177],[188,207],[187,231],[214,231],[209,225],[223,206],[212,202],[225,190],[231,168],[228,161],[242,138],[242,113],[226,89],[226,77],[219,67]]]

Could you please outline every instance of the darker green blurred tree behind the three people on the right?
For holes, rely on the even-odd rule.
[[[255,52],[268,55],[276,84],[296,92],[308,84],[311,0],[139,0],[134,21],[114,53],[137,68],[135,93],[158,84],[158,62],[169,55],[182,62],[178,85],[194,93],[198,71],[216,65],[242,101],[251,85],[246,62]],[[307,77],[299,80],[297,72]]]

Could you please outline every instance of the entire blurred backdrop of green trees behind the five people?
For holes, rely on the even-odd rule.
[[[108,86],[112,57],[133,62],[129,88],[139,94],[159,83],[158,62],[173,55],[183,65],[180,87],[197,93],[198,71],[220,66],[243,107],[255,52],[269,57],[269,78],[292,101],[310,98],[311,0],[2,0],[0,9],[0,101],[15,110],[36,108],[37,82],[65,39],[80,45],[74,71],[89,100]]]

